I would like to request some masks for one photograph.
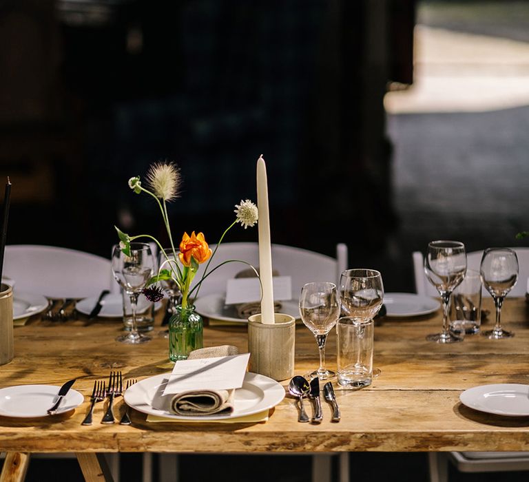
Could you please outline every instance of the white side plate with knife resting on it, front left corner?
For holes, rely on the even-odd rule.
[[[60,386],[18,385],[0,390],[0,415],[4,417],[48,417]],[[68,390],[56,413],[68,412],[83,403],[85,397],[77,390]]]

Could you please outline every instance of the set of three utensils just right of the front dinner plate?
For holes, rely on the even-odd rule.
[[[323,412],[322,403],[320,400],[320,379],[318,379],[318,377],[311,379],[309,383],[305,377],[296,375],[289,383],[289,393],[293,397],[296,397],[300,402],[300,415],[298,417],[299,422],[311,421],[312,423],[321,423],[323,419]],[[340,408],[338,408],[336,396],[330,381],[327,381],[327,383],[324,385],[323,395],[326,401],[329,401],[333,407],[333,416],[331,421],[340,421]],[[307,396],[313,400],[313,417],[311,419],[309,419],[309,416],[307,415],[307,412],[305,412],[303,406],[303,398]]]

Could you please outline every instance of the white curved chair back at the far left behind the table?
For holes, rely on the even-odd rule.
[[[83,251],[34,244],[6,246],[3,273],[15,289],[50,298],[84,298],[112,289],[110,260]]]

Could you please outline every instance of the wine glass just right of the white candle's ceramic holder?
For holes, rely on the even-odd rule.
[[[320,351],[320,368],[313,371],[310,377],[320,380],[335,377],[333,371],[325,368],[325,342],[340,316],[336,285],[323,281],[304,284],[300,295],[300,314],[304,325],[315,336]]]

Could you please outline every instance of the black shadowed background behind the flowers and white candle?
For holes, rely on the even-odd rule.
[[[163,238],[127,187],[158,160],[182,171],[174,238],[216,242],[256,200],[263,154],[273,242],[382,251],[397,224],[382,99],[412,80],[414,3],[0,0],[8,243],[107,257],[114,224]]]

